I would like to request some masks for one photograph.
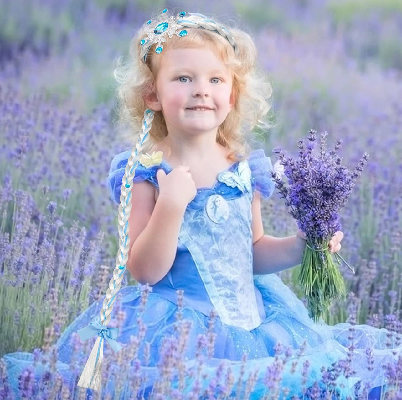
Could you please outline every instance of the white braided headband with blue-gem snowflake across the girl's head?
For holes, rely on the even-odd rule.
[[[166,19],[167,11],[167,8],[162,11],[158,17],[158,21],[152,22],[152,20],[149,20],[147,22],[147,25],[150,26],[150,31],[147,33],[148,37],[144,37],[139,42],[139,44],[142,46],[140,56],[143,57],[144,62],[147,58],[148,51],[153,44],[158,43],[158,46],[155,49],[157,54],[162,52],[162,42],[166,41],[166,33],[169,37],[172,37],[173,35],[178,37],[186,36],[187,31],[185,29],[179,31],[179,28],[181,27],[204,28],[209,29],[210,31],[216,31],[228,39],[229,43],[233,46],[236,55],[239,53],[234,37],[223,25],[216,23],[212,19],[207,19],[205,15],[197,13],[187,17],[187,19],[183,19],[183,17],[186,15],[185,11],[179,12],[176,17],[170,16]]]

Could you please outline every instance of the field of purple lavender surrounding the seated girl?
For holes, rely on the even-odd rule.
[[[328,147],[342,139],[338,154],[351,168],[369,153],[341,211],[340,254],[356,274],[340,265],[349,295],[332,304],[330,324],[385,327],[392,332],[390,346],[402,340],[400,0],[0,0],[0,359],[29,352],[45,368],[39,379],[31,368],[23,371],[15,397],[0,360],[0,399],[85,398],[76,383],[96,337],[81,342],[76,334],[75,381],[64,381],[57,372],[55,344],[105,295],[112,277],[117,205],[106,178],[113,155],[129,146],[117,124],[113,70],[135,29],[165,6],[239,25],[256,38],[260,64],[273,85],[274,127],[256,132],[250,144],[265,149],[273,162],[276,146],[297,155],[297,139],[306,138],[309,129],[327,131]],[[295,234],[297,224],[277,193],[262,207],[266,234]],[[279,276],[301,298],[298,271]],[[136,284],[126,272],[122,286]],[[146,301],[148,288],[143,289]],[[109,326],[118,327],[123,318],[117,296]],[[136,351],[143,329],[139,321],[132,346],[117,354],[105,346],[110,367],[103,367],[103,381],[121,379],[121,392],[105,388],[94,397],[128,399],[141,392]],[[281,354],[285,362],[287,354]],[[369,351],[367,357],[369,363]],[[113,363],[129,365],[127,375]],[[402,357],[384,368],[388,398],[402,398]],[[337,372],[345,369],[339,366]],[[219,379],[225,390],[218,398],[230,398],[236,386],[230,371],[218,369]],[[214,396],[214,385],[206,396]],[[268,378],[267,387],[278,394],[283,389],[280,380]],[[162,389],[155,398],[170,398],[168,388]],[[197,390],[195,385],[193,397],[184,397],[173,389],[170,396],[199,398]],[[322,398],[331,399],[327,396]],[[357,396],[367,398],[367,390],[362,387]],[[314,387],[304,397],[310,398],[321,398]]]

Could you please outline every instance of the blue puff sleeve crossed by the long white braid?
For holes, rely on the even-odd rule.
[[[130,154],[131,150],[126,150],[116,154],[110,164],[109,176],[106,178],[110,198],[117,204],[120,204],[121,185],[123,184],[124,170]],[[148,168],[144,168],[144,166],[138,163],[137,168],[135,168],[133,182],[152,180],[152,178],[152,171]]]

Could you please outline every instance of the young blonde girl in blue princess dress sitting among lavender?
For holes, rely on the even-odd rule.
[[[294,370],[291,362],[283,367],[278,398],[302,396],[320,381],[323,371],[327,378],[340,374],[333,386],[337,398],[354,398],[355,389],[364,385],[375,388],[369,398],[379,398],[386,383],[381,364],[395,359],[386,345],[389,332],[368,325],[314,323],[303,303],[273,274],[301,262],[305,240],[301,231],[286,238],[263,232],[260,201],[261,195],[269,198],[275,189],[269,173],[273,166],[263,149],[250,151],[245,138],[267,114],[271,87],[257,73],[256,46],[250,36],[199,14],[180,12],[168,18],[163,10],[158,21],[150,20],[139,30],[130,50],[129,69],[122,67],[117,74],[121,115],[132,131],[141,126],[142,130],[132,138],[133,150],[113,158],[107,178],[111,198],[121,207],[114,278],[106,298],[93,303],[59,339],[59,361],[72,362],[75,332],[93,325],[94,317],[109,325],[119,292],[125,318],[117,325],[117,340],[141,361],[148,379],[146,398],[156,391],[158,367],[167,357],[164,340],[177,337],[176,311],[191,321],[181,354],[187,370],[195,365],[199,346],[210,347],[199,335],[215,338],[212,357],[204,360],[203,389],[226,361],[242,385],[257,371],[250,398],[263,398],[265,393],[274,398],[269,388],[275,380],[275,351],[282,346],[288,348],[287,357],[299,355],[299,362]],[[342,232],[334,235],[331,251],[339,251],[342,238]],[[144,309],[144,287],[119,290],[126,269],[152,288],[146,292]],[[138,326],[139,315],[145,332]],[[130,338],[139,331],[141,343],[133,349]],[[351,333],[351,370],[342,372],[348,365]],[[95,350],[104,342],[98,336]],[[371,365],[367,348],[373,355]],[[93,354],[98,368],[99,351]],[[127,368],[123,364],[117,365],[121,371]],[[100,371],[89,372],[92,385]],[[130,385],[134,375],[127,379]],[[110,389],[123,383],[107,384]],[[190,380],[186,385],[180,393],[191,398]],[[236,396],[238,390],[243,398],[242,385],[228,395]],[[320,383],[320,388],[325,385]],[[193,398],[198,398],[194,390]],[[172,398],[180,398],[174,393]]]

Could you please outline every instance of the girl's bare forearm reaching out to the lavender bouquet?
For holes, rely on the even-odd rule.
[[[253,245],[253,274],[273,274],[301,264],[305,246],[305,240],[296,235],[262,236]]]

